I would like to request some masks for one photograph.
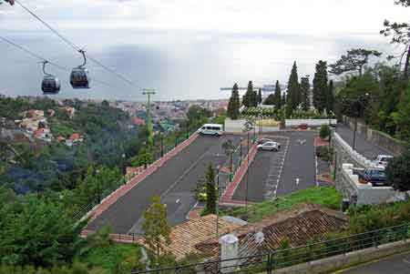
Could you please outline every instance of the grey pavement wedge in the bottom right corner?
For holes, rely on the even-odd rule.
[[[407,274],[410,273],[410,253],[391,256],[370,264],[338,271],[338,274]]]

